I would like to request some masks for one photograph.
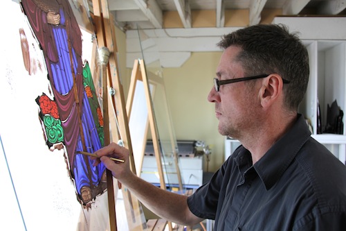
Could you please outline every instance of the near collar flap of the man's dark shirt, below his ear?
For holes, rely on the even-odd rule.
[[[280,138],[266,154],[254,164],[254,169],[260,176],[266,189],[271,189],[286,171],[295,155],[307,142],[311,135],[302,114],[288,132]]]

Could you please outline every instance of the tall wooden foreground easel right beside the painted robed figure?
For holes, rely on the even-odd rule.
[[[109,15],[107,0],[93,0],[93,15],[98,47],[107,47],[109,49],[109,62],[107,65],[102,65],[102,69],[104,69],[102,71],[104,124],[110,126],[110,128],[104,126],[104,145],[110,144],[110,137],[112,137],[112,139],[120,140],[121,144],[132,153],[124,93],[118,73],[116,36],[113,20]],[[111,95],[108,94],[109,89],[112,90]],[[136,173],[133,156],[130,156],[129,160],[131,171]],[[113,176],[110,171],[107,171],[107,191],[111,231],[115,231],[117,230],[115,198]],[[146,230],[147,225],[140,202],[137,198],[131,196],[131,193],[125,187],[122,187],[122,194],[129,230]]]

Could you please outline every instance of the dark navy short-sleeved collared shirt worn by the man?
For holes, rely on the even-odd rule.
[[[255,164],[239,146],[188,198],[215,230],[346,230],[346,166],[310,137],[301,115]]]

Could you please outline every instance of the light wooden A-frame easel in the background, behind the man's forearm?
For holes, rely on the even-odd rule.
[[[153,102],[152,102],[152,94],[151,94],[149,80],[147,78],[147,74],[145,71],[145,63],[143,60],[135,60],[134,61],[134,68],[132,69],[131,83],[129,86],[129,95],[127,97],[127,106],[126,106],[127,117],[129,118],[129,120],[130,120],[130,116],[131,116],[132,105],[134,103],[134,96],[135,96],[136,85],[137,85],[138,80],[143,82],[145,101],[146,101],[146,105],[147,105],[147,116],[148,116],[147,117],[147,123],[145,125],[146,126],[146,128],[145,128],[146,134],[144,135],[144,139],[143,139],[143,148],[142,148],[142,152],[140,153],[140,168],[138,170],[139,170],[139,172],[141,170],[141,165],[142,165],[143,157],[144,157],[144,148],[145,148],[144,143],[147,141],[147,130],[148,130],[148,126],[149,126],[150,132],[152,135],[152,142],[153,142],[154,154],[155,154],[155,158],[156,158],[156,165],[158,168],[160,187],[161,187],[161,189],[166,190],[167,188],[166,188],[165,178],[164,178],[164,173],[163,173],[163,166],[162,166],[162,160],[161,160],[161,148],[160,148],[159,138],[158,138],[158,128],[156,125],[156,120],[155,120],[155,115],[154,115],[154,106],[153,106]],[[156,85],[158,85],[158,84],[163,85],[163,83],[160,83],[160,82],[162,82],[162,81],[156,80],[155,84]],[[145,115],[143,115],[143,117],[144,116]],[[143,123],[143,121],[142,121],[142,123]],[[170,130],[170,138],[171,138],[171,140],[173,139],[172,130]],[[172,144],[172,151],[173,151],[174,163],[176,166],[176,174],[177,174],[178,180],[179,180],[179,188],[182,191],[183,185],[182,185],[182,181],[181,181],[181,173],[179,170],[178,159],[177,159],[174,144]],[[138,176],[139,176],[139,174],[138,174]],[[160,227],[162,227],[162,226],[165,226],[166,224],[168,225],[170,230],[172,230],[172,223],[167,222],[167,221],[163,221],[163,220],[148,222],[148,228],[151,228],[151,227],[157,228],[156,225],[160,225]]]

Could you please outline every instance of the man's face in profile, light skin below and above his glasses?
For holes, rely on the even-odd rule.
[[[221,55],[217,67],[217,78],[226,80],[246,77],[242,65],[235,61],[241,51],[237,46],[228,47]],[[239,139],[251,128],[255,114],[255,91],[246,86],[246,81],[221,85],[219,92],[212,87],[208,101],[215,103],[215,114],[219,119],[219,132]]]

